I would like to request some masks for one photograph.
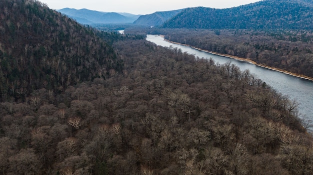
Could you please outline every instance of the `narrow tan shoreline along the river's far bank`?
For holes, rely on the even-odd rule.
[[[256,63],[255,61],[252,61],[252,60],[249,59],[249,58],[240,58],[240,57],[233,56],[233,55],[227,55],[227,54],[222,54],[222,53],[216,53],[216,52],[212,52],[212,51],[200,49],[200,48],[197,48],[197,47],[194,47],[194,46],[190,46],[190,45],[188,45],[188,44],[182,44],[182,43],[179,43],[179,42],[170,41],[170,40],[168,40],[168,39],[165,39],[165,38],[164,38],[164,35],[159,35],[159,36],[163,37],[163,39],[164,39],[165,41],[170,42],[170,43],[173,43],[173,44],[179,44],[179,45],[188,46],[188,47],[194,48],[194,49],[196,49],[196,50],[200,50],[200,51],[203,51],[203,52],[207,52],[207,53],[210,53],[210,54],[213,54],[213,55],[223,56],[223,57],[227,57],[227,58],[230,58],[230,59],[235,59],[235,60],[239,60],[239,61],[248,62],[248,63],[254,64],[254,65],[256,65],[256,66],[260,66],[260,67],[263,67],[263,68],[266,68],[266,69],[278,71],[278,72],[281,72],[281,73],[284,73],[284,74],[287,74],[287,75],[291,75],[291,76],[294,76],[294,77],[303,78],[303,79],[306,79],[306,80],[313,81],[313,78],[312,78],[312,77],[308,77],[308,76],[305,76],[305,75],[298,75],[298,74],[295,74],[295,73],[292,73],[292,72],[288,72],[288,71],[283,70],[283,69],[279,69],[279,68],[275,68],[275,67],[270,67],[270,66],[266,66],[266,65],[263,65],[263,64],[258,64],[258,63]]]

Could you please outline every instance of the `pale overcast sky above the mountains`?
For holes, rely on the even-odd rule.
[[[87,8],[104,12],[150,14],[186,7],[229,8],[260,0],[39,0],[52,9]]]

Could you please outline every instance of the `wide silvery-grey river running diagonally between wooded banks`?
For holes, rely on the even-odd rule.
[[[300,118],[305,116],[307,119],[313,120],[313,81],[311,80],[256,66],[245,61],[200,51],[189,46],[171,43],[158,35],[147,35],[146,40],[164,47],[172,46],[180,48],[182,52],[194,54],[194,56],[199,58],[212,58],[215,63],[219,64],[231,61],[231,64],[237,65],[241,71],[249,69],[250,73],[255,74],[276,91],[283,95],[288,95],[291,100],[295,99],[299,103],[298,111]]]

